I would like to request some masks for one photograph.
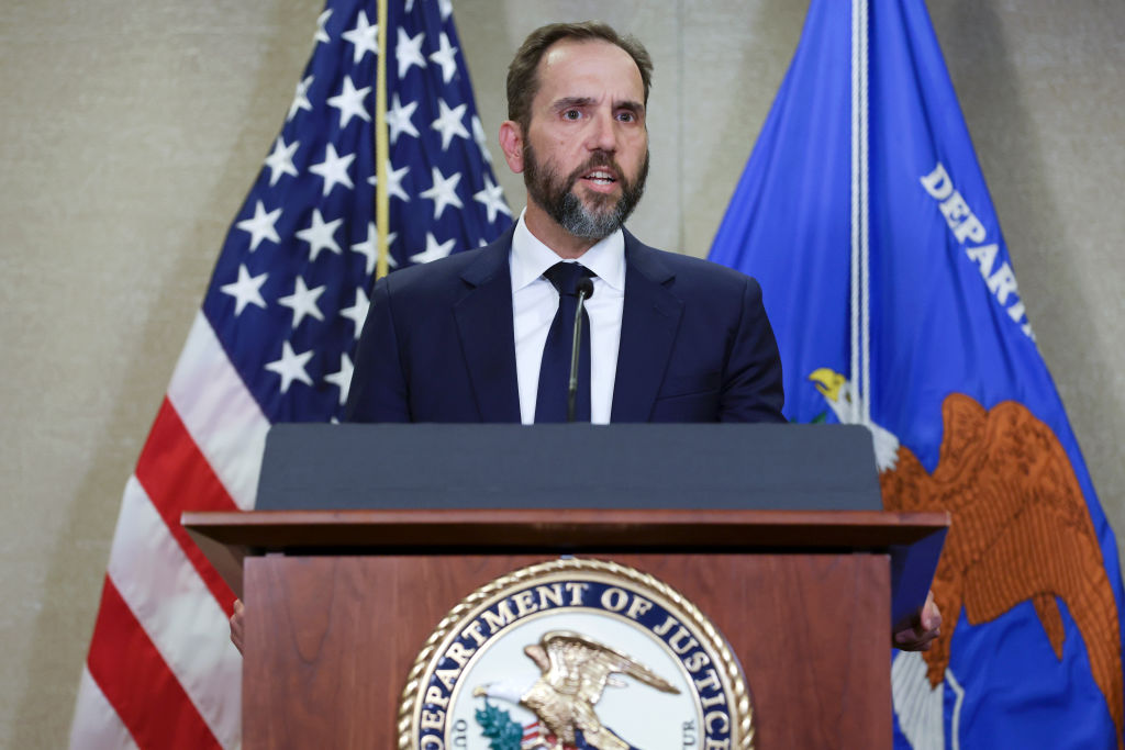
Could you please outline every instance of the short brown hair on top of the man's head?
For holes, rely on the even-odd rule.
[[[648,90],[652,83],[652,58],[640,42],[632,36],[621,36],[602,21],[580,24],[548,24],[528,35],[507,66],[507,118],[519,123],[526,132],[531,124],[531,100],[539,91],[539,62],[556,42],[575,39],[601,40],[616,45],[629,53],[640,70],[645,84],[645,106],[648,106]]]

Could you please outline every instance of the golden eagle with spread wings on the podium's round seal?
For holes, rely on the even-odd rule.
[[[577,742],[580,731],[586,746],[596,750],[630,750],[631,746],[602,725],[594,704],[605,686],[626,687],[614,675],[628,675],[662,693],[680,693],[645,665],[603,643],[570,631],[543,633],[539,643],[523,649],[542,672],[530,685],[526,679],[506,679],[480,685],[472,694],[503,698],[532,711],[555,737],[552,750]]]

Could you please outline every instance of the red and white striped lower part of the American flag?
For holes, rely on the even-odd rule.
[[[71,748],[235,748],[234,595],[180,525],[253,507],[269,421],[200,313],[125,496]]]

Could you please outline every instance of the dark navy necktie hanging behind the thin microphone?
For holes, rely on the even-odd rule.
[[[566,422],[567,389],[570,385],[570,352],[574,346],[574,316],[578,309],[578,281],[595,275],[579,263],[556,263],[543,272],[559,292],[559,309],[547,332],[543,361],[539,365],[536,422]],[[574,421],[590,422],[590,317],[582,310],[582,343],[578,345],[578,392]]]

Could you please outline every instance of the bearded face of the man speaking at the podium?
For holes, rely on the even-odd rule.
[[[567,233],[601,240],[637,206],[648,174],[640,71],[606,42],[560,42],[539,64],[523,141],[529,200]]]

